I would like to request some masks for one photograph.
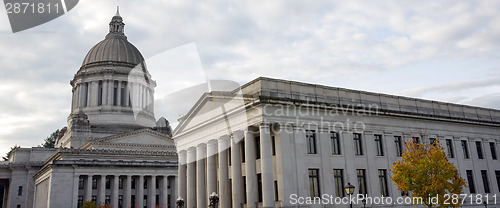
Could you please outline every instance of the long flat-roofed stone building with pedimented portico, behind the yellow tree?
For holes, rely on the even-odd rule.
[[[464,207],[484,207],[499,203],[499,127],[499,110],[258,78],[206,93],[180,120],[178,195],[189,208],[212,192],[224,208],[349,207],[336,197],[352,184],[391,199],[367,207],[416,206],[390,168],[406,142],[437,140],[468,183]]]

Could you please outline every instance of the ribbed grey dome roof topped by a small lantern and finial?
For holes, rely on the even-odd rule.
[[[122,17],[117,14],[109,23],[109,33],[106,38],[97,43],[85,56],[82,67],[101,64],[128,64],[137,65],[144,61],[139,50],[128,42],[123,33],[125,24]]]

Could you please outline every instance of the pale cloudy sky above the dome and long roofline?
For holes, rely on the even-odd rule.
[[[265,76],[500,109],[500,1],[84,0],[18,33],[0,9],[0,155],[66,125],[69,81],[117,5],[159,100]]]

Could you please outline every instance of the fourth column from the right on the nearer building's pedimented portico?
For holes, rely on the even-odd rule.
[[[219,203],[220,208],[229,208],[231,205],[228,178],[227,148],[229,136],[222,136],[219,139]]]

